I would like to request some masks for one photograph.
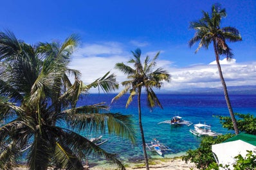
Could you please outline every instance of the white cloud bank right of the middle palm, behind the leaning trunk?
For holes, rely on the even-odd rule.
[[[221,65],[227,86],[255,85],[256,63]],[[170,90],[193,89],[198,87],[222,87],[216,65],[193,65],[186,68],[169,68],[172,81],[165,83]]]

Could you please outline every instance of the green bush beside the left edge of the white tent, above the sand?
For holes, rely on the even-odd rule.
[[[203,137],[199,148],[192,150],[189,149],[187,154],[182,157],[185,162],[194,162],[198,169],[207,169],[208,166],[215,162],[214,155],[212,154],[212,145],[219,144],[224,140],[233,137],[232,134],[219,135],[218,137]]]

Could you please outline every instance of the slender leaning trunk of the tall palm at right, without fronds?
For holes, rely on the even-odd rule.
[[[216,46],[215,40],[214,40],[214,52],[215,52],[216,63],[217,63],[218,71],[219,71],[219,77],[221,78],[221,83],[223,85],[224,96],[226,99],[226,105],[228,106],[228,111],[230,112],[230,117],[232,119],[233,128],[235,130],[235,135],[238,135],[239,130],[237,127],[237,120],[235,119],[235,115],[233,114],[233,109],[232,109],[232,106],[230,103],[230,98],[228,97],[228,89],[226,89],[226,83],[224,81],[223,73],[221,71],[221,64],[219,64],[219,53],[217,51],[217,46]]]

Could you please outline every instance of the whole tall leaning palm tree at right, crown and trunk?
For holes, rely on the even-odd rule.
[[[212,6],[212,13],[210,13],[210,15],[208,12],[203,11],[203,17],[199,21],[190,23],[190,28],[196,30],[196,34],[193,38],[191,38],[188,44],[191,47],[196,42],[199,42],[199,46],[196,49],[197,53],[197,51],[201,47],[205,47],[206,49],[208,49],[210,43],[213,42],[215,59],[217,62],[219,77],[221,78],[221,83],[223,85],[226,104],[230,112],[230,117],[233,122],[235,134],[239,134],[239,130],[237,128],[237,121],[235,119],[235,115],[233,114],[232,106],[228,96],[228,90],[226,88],[226,83],[224,81],[223,73],[221,71],[221,65],[219,64],[219,55],[226,55],[227,59],[232,57],[231,49],[226,44],[226,40],[229,40],[230,42],[237,42],[242,40],[242,38],[236,28],[221,28],[221,19],[223,17],[226,17],[226,10],[221,9],[220,6],[218,6],[217,4],[214,4]]]

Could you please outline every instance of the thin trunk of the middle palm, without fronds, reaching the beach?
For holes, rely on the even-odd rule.
[[[140,106],[141,93],[142,93],[142,87],[138,87],[139,126],[140,126],[140,133],[142,135],[142,146],[143,146],[143,153],[144,153],[144,160],[145,160],[145,164],[146,164],[146,169],[149,170],[149,160],[147,160],[146,143],[145,143],[144,132],[143,132],[143,127],[142,127],[142,108]]]

